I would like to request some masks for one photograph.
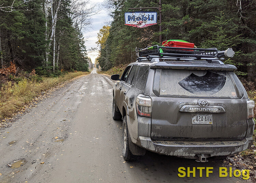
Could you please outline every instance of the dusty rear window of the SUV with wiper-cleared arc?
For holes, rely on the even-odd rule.
[[[160,74],[159,95],[237,97],[226,71],[162,69]]]

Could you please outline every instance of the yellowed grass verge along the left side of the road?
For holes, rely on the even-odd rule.
[[[68,72],[59,77],[42,78],[40,82],[22,78],[16,83],[11,81],[0,89],[0,119],[11,117],[18,109],[30,102],[43,90],[47,90],[58,83],[70,80],[89,72]]]

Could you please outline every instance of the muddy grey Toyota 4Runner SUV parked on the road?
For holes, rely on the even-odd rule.
[[[121,78],[111,76],[113,119],[123,119],[124,159],[136,160],[149,150],[206,162],[250,147],[254,101],[237,68],[219,58],[233,51],[190,48],[176,56],[179,50],[164,54],[156,47],[153,55],[152,49],[140,50]]]

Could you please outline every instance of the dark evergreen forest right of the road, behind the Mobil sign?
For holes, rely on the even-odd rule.
[[[98,34],[97,61],[103,71],[136,61],[135,48],[160,45],[161,34],[162,40],[182,39],[198,48],[232,48],[236,54],[225,63],[237,66],[236,74],[255,85],[255,0],[162,0],[161,32],[158,24],[141,29],[124,25],[124,13],[132,11],[128,8],[158,7],[158,3],[159,0],[105,1],[113,21]]]

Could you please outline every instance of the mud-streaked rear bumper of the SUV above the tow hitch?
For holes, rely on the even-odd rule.
[[[252,145],[252,137],[230,141],[169,141],[139,137],[139,146],[159,154],[197,158],[197,154],[225,156],[244,151]]]

